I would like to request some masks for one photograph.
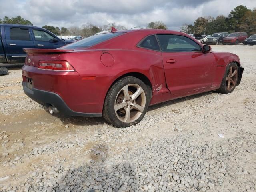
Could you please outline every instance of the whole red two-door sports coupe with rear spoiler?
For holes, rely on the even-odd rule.
[[[230,93],[244,68],[237,55],[213,52],[182,32],[122,30],[58,49],[24,49],[24,92],[49,112],[103,116],[137,124],[148,106],[218,90]]]

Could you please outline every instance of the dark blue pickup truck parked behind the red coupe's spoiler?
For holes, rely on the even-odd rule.
[[[0,24],[0,63],[25,63],[23,48],[55,49],[72,42],[40,27]]]

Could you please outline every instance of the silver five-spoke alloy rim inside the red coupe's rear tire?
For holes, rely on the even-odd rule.
[[[138,84],[128,84],[117,94],[115,100],[115,113],[117,118],[124,123],[137,120],[146,105],[146,95]]]

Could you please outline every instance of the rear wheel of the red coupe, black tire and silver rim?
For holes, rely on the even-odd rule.
[[[119,128],[142,120],[150,103],[152,92],[142,80],[127,76],[118,80],[108,91],[104,102],[104,119]]]

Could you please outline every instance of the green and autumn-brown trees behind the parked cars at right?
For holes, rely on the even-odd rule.
[[[219,15],[199,17],[192,24],[184,24],[181,32],[187,34],[213,34],[217,32],[247,32],[248,35],[256,34],[256,8],[248,9],[240,5],[234,8],[228,16]]]

